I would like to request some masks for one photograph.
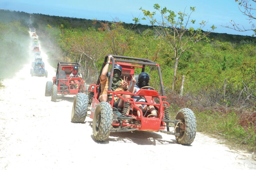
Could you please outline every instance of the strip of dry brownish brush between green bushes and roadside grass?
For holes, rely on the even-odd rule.
[[[198,95],[186,94],[184,96],[179,96],[177,92],[167,89],[166,101],[173,109],[187,107],[197,112],[236,114],[239,116],[239,125],[247,129],[249,126],[256,127],[254,91],[245,84],[243,89],[234,88],[232,85],[227,86],[225,97],[223,88],[212,87],[207,91],[201,90]],[[254,131],[256,132],[256,128]]]

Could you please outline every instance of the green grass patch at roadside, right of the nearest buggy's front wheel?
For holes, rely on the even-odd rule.
[[[195,112],[197,132],[218,134],[225,137],[227,145],[256,151],[255,127],[239,125],[240,116],[234,112],[223,114],[212,111]]]

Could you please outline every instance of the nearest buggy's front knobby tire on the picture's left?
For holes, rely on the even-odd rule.
[[[100,102],[93,115],[92,132],[98,141],[108,139],[113,122],[112,107],[108,102]]]

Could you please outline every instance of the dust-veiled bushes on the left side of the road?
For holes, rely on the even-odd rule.
[[[8,13],[12,14],[11,12]],[[12,16],[4,14],[0,10],[0,72],[2,73],[0,78],[12,76],[28,61],[29,33],[27,22],[24,19],[14,20]]]

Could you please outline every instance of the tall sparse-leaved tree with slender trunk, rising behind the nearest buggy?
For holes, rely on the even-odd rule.
[[[210,30],[203,31],[202,28],[205,27],[207,22],[201,21],[199,22],[200,27],[194,29],[192,25],[195,24],[196,20],[192,20],[190,17],[195,11],[195,7],[190,7],[190,13],[185,13],[185,10],[183,12],[174,12],[172,10],[168,10],[166,7],[161,8],[158,4],[155,4],[154,9],[160,13],[160,17],[157,19],[155,18],[155,11],[150,12],[142,8],[140,9],[145,16],[142,20],[149,20],[157,32],[158,37],[163,39],[174,52],[173,54],[170,51],[170,54],[173,54],[172,59],[175,60],[172,83],[172,90],[174,91],[180,57],[182,57],[184,51],[190,50],[195,43],[200,41],[210,41],[208,35],[216,27],[212,25]],[[137,23],[140,19],[134,18],[133,20]]]

